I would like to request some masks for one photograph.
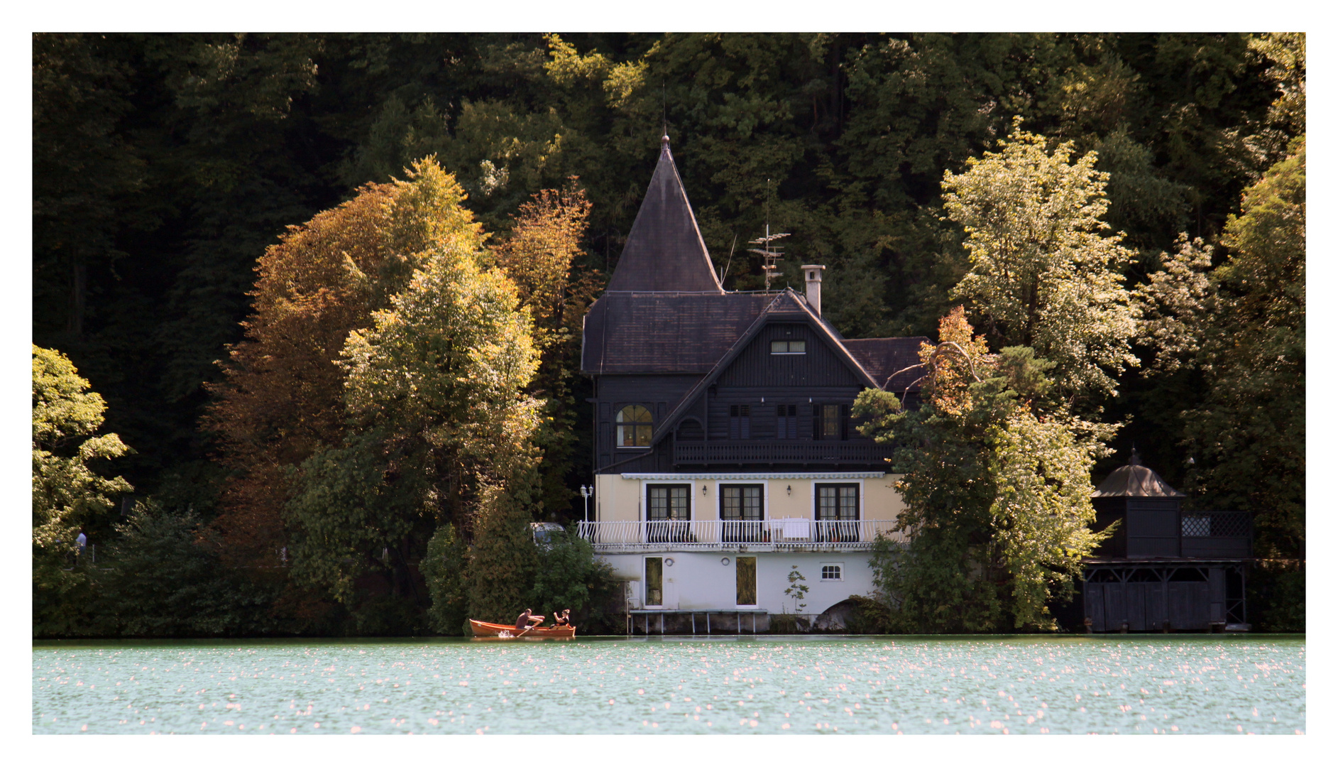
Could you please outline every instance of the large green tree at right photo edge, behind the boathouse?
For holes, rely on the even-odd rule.
[[[1305,558],[1306,143],[1295,141],[1227,221],[1204,323],[1204,395],[1185,414],[1196,503],[1256,511],[1256,547]]]

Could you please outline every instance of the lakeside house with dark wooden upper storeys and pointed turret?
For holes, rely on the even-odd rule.
[[[914,400],[925,337],[842,337],[804,292],[727,292],[662,139],[603,296],[585,319],[594,381],[593,521],[582,535],[628,581],[629,630],[838,628],[872,590],[868,557],[902,510],[888,447],[855,396]],[[803,576],[801,598],[785,593]]]

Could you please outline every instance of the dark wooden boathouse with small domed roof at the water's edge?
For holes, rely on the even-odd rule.
[[[1116,527],[1084,560],[1092,632],[1248,630],[1250,514],[1185,511],[1184,499],[1137,451],[1096,489],[1096,529]]]

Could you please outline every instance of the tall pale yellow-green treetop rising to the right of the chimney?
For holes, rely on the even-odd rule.
[[[1070,162],[1072,143],[1046,151],[1044,137],[1018,124],[999,151],[943,174],[943,206],[971,260],[954,296],[971,301],[998,347],[1054,361],[1065,392],[1115,394],[1113,376],[1137,365],[1137,315],[1121,274],[1133,254],[1120,236],[1101,234],[1109,175],[1096,170],[1096,153]]]

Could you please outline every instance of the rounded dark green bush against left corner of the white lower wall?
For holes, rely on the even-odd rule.
[[[534,590],[527,602],[535,613],[551,617],[571,610],[573,625],[589,632],[591,626],[614,622],[609,606],[621,593],[622,581],[613,577],[607,562],[595,558],[594,546],[577,535],[574,527],[551,533],[537,547]]]

